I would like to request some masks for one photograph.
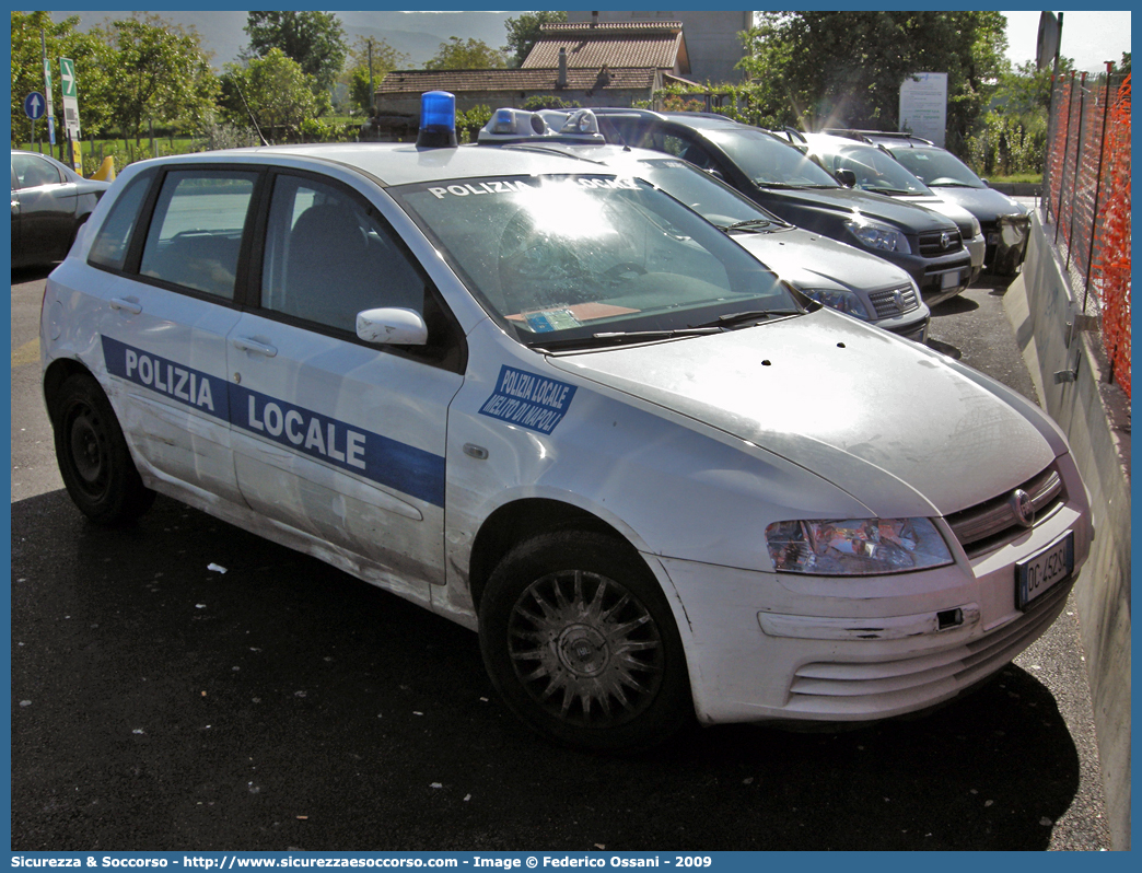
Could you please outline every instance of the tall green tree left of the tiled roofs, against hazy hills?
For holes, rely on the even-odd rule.
[[[246,19],[250,54],[266,57],[280,49],[301,72],[313,77],[314,87],[328,93],[345,64],[345,31],[332,13],[249,13]]]

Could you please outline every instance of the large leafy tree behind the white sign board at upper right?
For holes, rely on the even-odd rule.
[[[900,86],[948,73],[948,144],[962,146],[1006,69],[995,11],[759,13],[740,66],[767,111],[804,127],[894,129]]]

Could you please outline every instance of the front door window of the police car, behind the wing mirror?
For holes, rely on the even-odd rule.
[[[311,178],[274,181],[263,307],[354,333],[364,310],[424,314],[425,290],[393,232],[363,202]]]

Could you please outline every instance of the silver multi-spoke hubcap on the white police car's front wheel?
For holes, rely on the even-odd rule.
[[[646,607],[619,583],[566,570],[523,592],[508,647],[528,694],[562,721],[613,727],[651,705],[662,640]]]

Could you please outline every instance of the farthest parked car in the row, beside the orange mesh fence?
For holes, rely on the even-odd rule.
[[[980,219],[988,248],[983,269],[996,275],[1014,275],[1027,257],[1031,216],[1020,203],[988,186],[947,149],[910,134],[883,130],[828,130],[866,143],[883,145],[904,168],[940,197],[959,203]]]

